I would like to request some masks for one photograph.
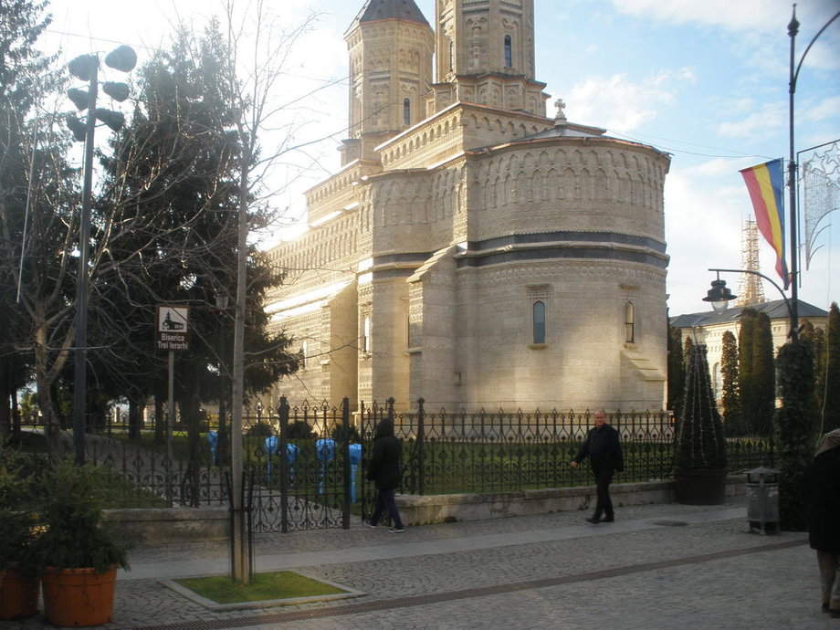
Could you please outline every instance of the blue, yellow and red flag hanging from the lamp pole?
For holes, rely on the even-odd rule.
[[[740,171],[747,184],[761,236],[776,250],[776,272],[788,288],[787,264],[784,261],[784,205],[782,203],[782,160],[773,160]]]

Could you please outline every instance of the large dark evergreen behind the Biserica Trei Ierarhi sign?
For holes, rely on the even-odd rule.
[[[97,330],[103,366],[129,359],[123,387],[137,398],[165,392],[165,353],[152,348],[159,304],[190,307],[189,352],[176,356],[176,389],[193,444],[203,401],[229,397],[232,310],[216,306],[236,285],[236,204],[241,148],[230,131],[236,114],[225,81],[226,38],[214,21],[200,38],[181,30],[140,72],[131,124],[114,140],[100,208],[131,229],[108,236],[100,299],[111,305]],[[255,210],[253,223],[265,223]],[[268,333],[266,291],[280,281],[264,255],[248,256],[246,313],[249,392],[264,391],[297,367],[289,340]],[[114,308],[114,305],[120,305]],[[114,372],[112,369],[109,372]],[[128,381],[128,382],[126,382]],[[130,395],[130,398],[134,396]],[[224,432],[224,427],[222,427]],[[162,435],[161,431],[157,432]]]

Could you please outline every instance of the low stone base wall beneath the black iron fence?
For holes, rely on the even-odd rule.
[[[616,507],[672,503],[674,483],[673,479],[615,483],[610,487],[610,495]],[[727,478],[727,497],[740,496],[745,492],[745,475],[730,475]],[[594,501],[594,486],[492,494],[398,495],[396,498],[406,525],[588,510],[593,508]],[[107,509],[105,520],[121,541],[135,545],[226,541],[230,537],[230,513],[227,508]]]

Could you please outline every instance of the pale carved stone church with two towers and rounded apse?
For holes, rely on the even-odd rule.
[[[533,0],[367,0],[349,138],[270,251],[298,403],[658,410],[666,152],[546,116]]]

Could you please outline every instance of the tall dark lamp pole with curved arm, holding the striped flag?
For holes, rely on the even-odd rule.
[[[828,26],[840,17],[840,11],[831,17],[805,48],[799,62],[796,62],[796,36],[799,33],[799,20],[796,19],[796,5],[793,5],[793,17],[788,24],[788,37],[791,38],[791,64],[790,64],[790,81],[788,83],[788,130],[790,132],[790,154],[788,156],[788,193],[790,194],[790,223],[791,223],[791,340],[795,341],[799,335],[799,243],[797,236],[796,223],[798,219],[796,209],[796,167],[794,143],[793,143],[793,105],[794,96],[796,94],[796,81],[799,79],[799,71],[802,69],[803,61],[814,46],[817,37],[820,37]]]

